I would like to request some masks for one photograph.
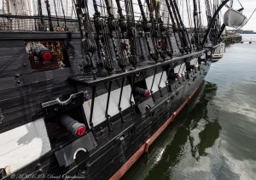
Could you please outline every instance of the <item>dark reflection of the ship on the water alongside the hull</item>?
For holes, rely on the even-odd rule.
[[[172,179],[177,177],[175,167],[188,152],[195,161],[207,155],[207,149],[214,145],[221,132],[218,113],[207,109],[216,92],[216,84],[203,84],[201,92],[195,95],[197,98],[191,100],[124,179]]]

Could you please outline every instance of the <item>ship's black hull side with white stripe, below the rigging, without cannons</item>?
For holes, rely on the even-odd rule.
[[[28,37],[40,41],[41,34],[7,32],[2,35],[3,59],[9,62],[19,59],[24,66],[23,69],[20,64],[9,66],[0,78],[6,82],[0,89],[3,95],[0,105],[5,118],[0,124],[0,143],[7,146],[4,152],[0,151],[1,171],[5,171],[3,179],[119,179],[189,102],[201,86],[212,60],[212,49],[206,48],[200,52],[177,54],[144,69],[121,72],[110,76],[111,79],[104,77],[84,82],[76,76],[79,53],[70,56],[70,68],[31,72],[23,41]],[[56,35],[63,41],[69,38],[73,48],[81,46],[76,33]],[[56,35],[44,35],[44,39],[55,39]],[[176,74],[181,72],[181,76],[170,82],[166,67]],[[19,74],[15,68],[23,71]],[[133,77],[136,80],[132,82]],[[120,106],[123,109],[117,111],[114,101],[120,94],[123,78],[125,95]],[[113,82],[112,88],[109,82]],[[131,89],[136,86],[151,89],[151,96],[143,100],[132,96]],[[90,95],[94,87],[97,87],[96,97]],[[69,98],[60,100],[63,94]],[[95,107],[91,101],[94,98]],[[106,104],[109,104],[109,112],[107,110],[105,116]],[[94,107],[91,119],[90,107]],[[59,127],[60,114],[83,121],[86,125],[84,136],[73,137],[67,131],[53,135],[55,127]]]

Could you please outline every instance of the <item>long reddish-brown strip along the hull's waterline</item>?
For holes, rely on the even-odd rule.
[[[109,178],[110,180],[119,180],[125,175],[125,172],[127,172],[131,166],[143,155],[143,153],[148,152],[148,147],[154,143],[154,140],[160,136],[166,127],[168,127],[168,125],[174,120],[177,114],[183,109],[183,107],[189,103],[189,100],[194,96],[198,89],[199,87],[197,87],[195,91],[191,93],[189,98],[187,98],[184,103],[175,112],[172,113],[168,120],[156,132],[154,132],[154,134],[148,138],[145,143],[143,143],[142,147],[138,149],[136,153],[133,154],[131,158],[125,162],[123,166],[120,167],[119,171],[115,172],[113,176]]]

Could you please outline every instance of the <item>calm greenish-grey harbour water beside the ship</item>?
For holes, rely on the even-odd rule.
[[[125,180],[256,179],[256,43],[233,44]]]

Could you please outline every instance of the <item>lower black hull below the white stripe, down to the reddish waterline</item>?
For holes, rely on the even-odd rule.
[[[34,177],[42,179],[81,179],[82,177],[85,179],[119,179],[141,155],[147,152],[150,144],[154,143],[154,140],[189,102],[189,99],[199,89],[209,68],[210,62],[207,62],[207,65],[197,71],[195,75],[191,73],[189,80],[177,83],[182,87],[179,89],[180,93],[164,94],[164,97],[159,100],[160,103],[151,110],[150,115],[133,119],[128,114],[124,117],[125,122],[114,121],[113,132],[107,130],[104,132],[107,138],[99,138],[99,141],[102,141],[102,147],[90,155],[80,156],[81,160],[78,163],[67,167],[59,166],[54,152],[49,152],[6,179],[13,177],[21,179],[23,177],[24,179]],[[175,96],[173,99],[171,99],[172,95]],[[155,94],[155,96],[160,95]],[[116,129],[123,129],[122,127],[125,127],[124,131],[115,132]],[[111,133],[117,135],[108,138]],[[102,137],[104,136],[102,135]],[[120,139],[121,137],[124,139]]]

